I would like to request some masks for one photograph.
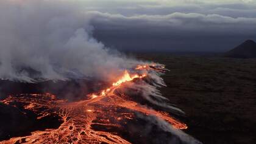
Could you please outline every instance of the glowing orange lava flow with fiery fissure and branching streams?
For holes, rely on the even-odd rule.
[[[116,92],[126,84],[148,78],[150,71],[162,73],[165,67],[146,64],[125,70],[123,77],[112,86],[77,102],[68,102],[52,94],[10,95],[0,102],[32,111],[38,119],[57,114],[63,123],[57,129],[34,131],[31,135],[13,137],[0,143],[130,143],[116,129],[124,130],[127,122],[135,120],[137,114],[165,120],[176,129],[187,129],[187,125],[168,113],[140,105],[138,101],[131,100],[129,94]]]

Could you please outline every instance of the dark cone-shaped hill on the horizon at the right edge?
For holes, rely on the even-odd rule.
[[[244,41],[243,44],[235,47],[224,54],[230,58],[256,58],[256,43],[252,40]]]

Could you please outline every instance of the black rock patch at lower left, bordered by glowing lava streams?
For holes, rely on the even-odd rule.
[[[33,111],[0,102],[0,143],[1,140],[9,140],[12,137],[30,135],[33,131],[59,128],[61,123],[63,121],[59,115],[52,114],[38,120]]]

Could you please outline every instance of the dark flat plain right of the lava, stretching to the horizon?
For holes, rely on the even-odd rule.
[[[207,144],[256,142],[256,59],[140,54],[166,64],[163,95],[187,114],[187,133]]]

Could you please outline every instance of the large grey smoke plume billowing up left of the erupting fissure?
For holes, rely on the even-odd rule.
[[[70,1],[0,1],[0,78],[111,78],[131,60],[91,37],[90,14]]]

